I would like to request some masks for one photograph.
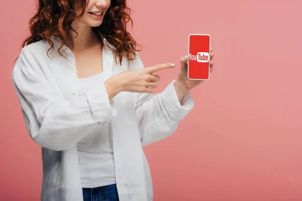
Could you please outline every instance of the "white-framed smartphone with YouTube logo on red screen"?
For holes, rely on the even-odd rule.
[[[189,35],[188,79],[208,80],[210,78],[210,49],[210,35]]]

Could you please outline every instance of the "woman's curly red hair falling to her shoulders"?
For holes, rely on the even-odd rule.
[[[81,18],[87,6],[86,0],[39,0],[39,7],[37,14],[29,21],[29,28],[31,36],[24,40],[22,47],[31,43],[45,39],[51,46],[48,52],[54,48],[50,36],[58,37],[62,45],[58,52],[60,55],[61,48],[66,43],[66,30],[69,28],[75,32],[71,27],[71,23]],[[78,12],[82,11],[82,12]],[[126,6],[126,0],[111,0],[111,5],[106,12],[103,23],[99,27],[93,29],[100,36],[106,38],[115,47],[115,60],[119,57],[120,64],[123,55],[128,61],[135,59],[136,45],[139,45],[131,37],[126,30],[126,24],[130,21],[133,27],[133,22],[130,18],[130,9]],[[62,55],[63,56],[63,55]]]

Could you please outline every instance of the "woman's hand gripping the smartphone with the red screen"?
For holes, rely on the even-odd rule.
[[[210,63],[209,63],[210,64],[210,73],[212,72],[213,66],[214,66],[214,63],[212,61],[213,56],[214,56],[213,49],[211,48]],[[189,60],[188,55],[181,58],[181,60],[180,60],[180,62],[181,62],[180,72],[179,72],[179,76],[178,76],[178,78],[175,82],[177,82],[177,84],[183,85],[184,88],[189,92],[192,88],[196,87],[201,82],[203,82],[203,80],[188,79],[188,60]]]

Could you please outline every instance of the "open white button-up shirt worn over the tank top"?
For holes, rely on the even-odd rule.
[[[74,54],[60,42],[41,40],[24,47],[13,83],[28,133],[42,147],[42,201],[83,201],[77,143],[98,124],[112,123],[116,185],[121,201],[153,200],[152,179],[142,147],[170,136],[194,108],[189,93],[179,103],[173,80],[162,93],[120,92],[109,102],[104,83],[78,94]],[[112,44],[103,41],[104,81],[143,68],[136,59],[115,63]]]

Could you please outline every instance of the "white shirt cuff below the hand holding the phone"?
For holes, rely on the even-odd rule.
[[[165,108],[173,120],[182,120],[193,108],[194,101],[190,93],[187,93],[179,102],[173,80],[163,91]]]

